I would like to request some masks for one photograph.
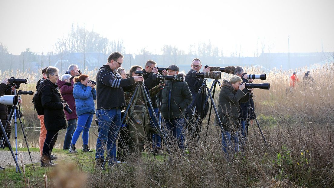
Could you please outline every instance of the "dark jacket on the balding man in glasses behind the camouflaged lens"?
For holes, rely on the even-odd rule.
[[[199,91],[199,88],[202,86],[204,80],[202,78],[194,78],[192,77],[192,72],[193,70],[190,69],[190,71],[187,73],[187,75],[185,76],[185,81],[187,82],[188,86],[189,86],[189,89],[191,91],[191,95],[192,95],[192,99],[195,100],[197,94],[198,94],[198,91]],[[206,99],[207,95],[206,95],[206,91],[205,91],[205,94],[204,96],[202,96],[202,94],[200,94],[200,96],[197,98],[197,101],[193,101],[194,104],[193,104],[193,108],[195,108],[195,114],[199,115],[200,112],[202,112],[202,108],[203,106],[201,105],[201,102],[202,102],[202,97],[204,98],[204,100]],[[206,114],[208,113],[209,111],[209,103],[206,102],[206,105],[205,105],[205,109],[204,109],[204,117],[206,116]],[[191,113],[191,109],[186,109],[186,113]],[[202,118],[204,118],[202,117]]]

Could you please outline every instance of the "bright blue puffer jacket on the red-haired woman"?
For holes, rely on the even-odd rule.
[[[76,82],[74,83],[73,97],[77,116],[83,113],[95,113],[95,88],[92,89],[92,87],[82,85],[81,82]]]

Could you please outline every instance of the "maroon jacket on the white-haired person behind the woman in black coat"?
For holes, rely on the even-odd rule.
[[[71,83],[67,83],[65,81],[57,80],[57,85],[60,88],[60,94],[63,97],[64,101],[67,102],[69,108],[73,111],[71,114],[68,114],[65,110],[65,115],[67,121],[69,119],[77,119],[78,116],[76,116],[76,111],[75,111],[75,101],[73,97],[73,79],[71,80]]]

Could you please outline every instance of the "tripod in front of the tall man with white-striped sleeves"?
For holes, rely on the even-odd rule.
[[[129,111],[129,109],[130,109],[130,106],[132,106],[132,103],[135,104],[135,103],[137,102],[140,93],[143,95],[145,106],[147,107],[147,109],[148,109],[148,107],[150,107],[150,109],[151,109],[151,111],[152,111],[152,114],[153,114],[153,117],[154,117],[154,120],[155,120],[155,122],[158,123],[158,125],[155,125],[154,121],[152,121],[154,127],[155,127],[156,130],[158,131],[158,134],[159,134],[160,136],[162,136],[163,138],[165,138],[165,137],[164,137],[164,134],[162,133],[161,124],[160,124],[160,122],[158,121],[158,118],[157,118],[157,116],[156,116],[155,113],[154,113],[154,109],[153,109],[152,103],[151,103],[151,101],[150,101],[150,99],[149,99],[149,96],[148,96],[148,94],[147,94],[147,91],[145,90],[145,85],[144,85],[144,83],[143,83],[142,81],[138,82],[138,84],[136,85],[136,89],[135,89],[135,91],[134,91],[134,93],[133,93],[133,95],[132,95],[132,97],[131,97],[131,99],[130,99],[130,102],[129,102],[129,104],[128,104],[126,110],[125,110],[125,114],[123,115],[123,118],[122,118],[121,122],[124,122],[124,120],[125,120],[125,118],[126,118],[126,116],[127,116],[127,114],[128,114],[128,111]],[[127,121],[128,121],[128,120],[127,120]],[[126,121],[126,122],[127,122],[127,121]],[[125,123],[126,123],[126,122],[125,122]],[[166,147],[168,148],[167,141],[166,141],[166,139],[164,139],[164,140],[165,140],[165,142],[166,142]],[[106,164],[106,161],[107,161],[107,160],[105,159],[104,162],[103,162],[103,164],[102,164],[102,166],[104,166],[104,165]]]

